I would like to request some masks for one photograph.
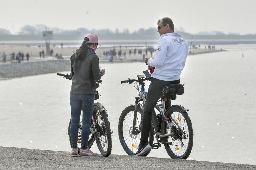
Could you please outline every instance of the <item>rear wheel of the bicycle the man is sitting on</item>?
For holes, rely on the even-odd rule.
[[[163,142],[172,142],[171,145],[164,144],[166,152],[171,158],[174,159],[187,159],[192,151],[193,147],[193,127],[189,115],[187,112],[182,112],[178,107],[171,106],[165,113],[168,118],[168,122],[173,118],[176,123],[175,127],[180,126],[179,128],[171,127],[171,130],[167,130],[166,121],[162,123],[163,134],[168,134],[171,131],[174,132],[173,137],[164,137],[162,138]],[[171,118],[172,116],[172,118]],[[186,134],[185,134],[186,133]],[[185,139],[188,137],[188,139]],[[181,140],[180,140],[181,139]],[[182,141],[182,142],[181,142]],[[184,142],[185,141],[185,142]],[[182,144],[184,146],[182,146]]]

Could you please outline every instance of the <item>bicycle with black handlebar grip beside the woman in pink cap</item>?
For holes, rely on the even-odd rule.
[[[58,76],[63,76],[66,79],[72,80],[72,77],[70,77],[68,74],[61,74],[57,73]],[[97,88],[99,87],[99,83],[102,83],[102,80],[95,81]],[[96,94],[94,96],[94,100],[99,99],[99,93],[96,91]],[[80,116],[80,123],[78,125],[78,153],[81,149],[81,141],[82,141],[82,128],[83,128],[83,110],[81,111]],[[71,125],[71,118],[68,125],[68,135],[69,135],[69,141],[70,145],[71,143],[71,137],[70,137],[70,125]],[[113,131],[110,129],[110,123],[108,121],[108,113],[105,107],[101,103],[94,103],[93,104],[93,110],[92,110],[92,120],[91,120],[91,132],[89,136],[88,141],[88,148],[91,148],[94,140],[96,140],[97,146],[99,151],[104,157],[108,157],[111,154],[112,150],[112,139],[111,135],[113,135]]]

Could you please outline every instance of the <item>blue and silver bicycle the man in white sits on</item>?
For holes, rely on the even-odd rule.
[[[151,79],[148,71],[143,71],[143,73],[146,78],[143,75],[138,75],[138,79],[128,78],[128,80],[121,81],[121,84],[134,83],[135,89],[138,90],[135,104],[131,104],[123,110],[118,122],[119,139],[128,155],[134,155],[138,151],[140,143],[143,106],[147,96],[144,81]],[[141,89],[139,89],[140,86]],[[189,110],[181,105],[172,105],[165,110],[165,101],[167,99],[176,99],[177,89],[174,87],[173,92],[173,89],[170,88],[171,86],[173,85],[166,86],[163,89],[163,102],[155,106],[159,113],[156,114],[155,111],[152,113],[152,126],[148,143],[152,149],[158,149],[163,144],[171,158],[187,159],[193,146],[192,123],[187,113]],[[154,135],[157,142],[153,144]],[[142,156],[147,156],[149,152]]]

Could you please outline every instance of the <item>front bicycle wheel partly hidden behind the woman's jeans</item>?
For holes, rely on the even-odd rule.
[[[83,121],[82,121],[82,119],[83,119],[83,111],[81,111],[80,122],[79,122],[79,125],[80,125],[80,126],[83,126]],[[71,125],[71,118],[70,118],[70,121],[69,121],[68,132],[70,132],[70,125]],[[80,153],[81,141],[82,141],[82,140],[81,140],[81,136],[80,136],[80,135],[82,134],[82,132],[80,131],[80,130],[82,129],[82,127],[80,127],[79,125],[78,125],[78,138],[77,138],[78,153]],[[91,121],[91,126],[92,126],[92,121]],[[70,143],[70,145],[71,145],[71,147],[72,147],[72,142],[71,142],[71,136],[70,136],[70,134],[69,134],[68,136],[69,136],[69,143]],[[79,136],[80,136],[80,137],[79,137]],[[89,135],[89,140],[88,140],[88,148],[91,148],[91,146],[92,146],[94,140],[95,140],[94,134],[90,133],[90,135]]]

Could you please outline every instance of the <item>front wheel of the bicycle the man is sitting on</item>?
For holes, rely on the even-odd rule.
[[[119,140],[121,142],[121,145],[122,145],[124,151],[128,155],[134,155],[138,151],[138,147],[139,147],[139,143],[140,143],[140,134],[141,134],[141,132],[139,132],[137,135],[134,135],[131,132],[131,129],[132,129],[132,126],[133,126],[134,108],[135,108],[135,106],[132,106],[132,105],[126,107],[123,110],[123,112],[121,113],[119,121],[118,121]],[[142,108],[138,107],[138,112],[137,112],[138,124],[136,123],[136,125],[138,125],[138,126],[140,125],[141,118],[142,118],[141,116],[139,116],[139,114],[142,115],[142,113],[143,113]],[[126,118],[127,118],[128,121],[125,121],[125,126],[126,127],[123,127],[124,120]],[[128,128],[129,128],[129,130],[127,130]],[[124,131],[129,131],[129,134],[124,134]],[[151,147],[152,147],[153,141],[154,141],[153,134],[154,134],[154,131],[153,131],[153,127],[151,126],[149,137],[148,137],[148,143]],[[130,140],[132,140],[132,141],[130,141]],[[146,157],[149,154],[149,152],[145,153],[142,156]]]

